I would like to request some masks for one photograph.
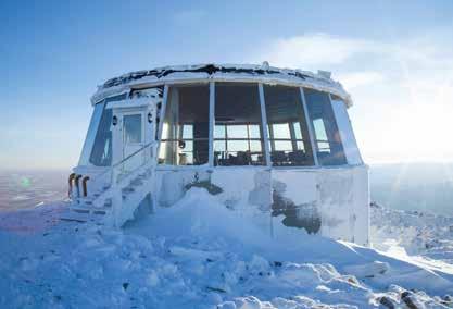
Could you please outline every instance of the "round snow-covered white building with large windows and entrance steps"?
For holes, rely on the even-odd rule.
[[[205,187],[231,210],[368,244],[368,168],[330,73],[263,65],[167,66],[109,79],[70,176],[72,209],[121,226],[139,205]],[[222,220],[222,218],[218,218]],[[171,224],[171,223],[168,223]]]

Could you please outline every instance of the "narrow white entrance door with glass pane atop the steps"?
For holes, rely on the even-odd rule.
[[[144,163],[144,119],[143,112],[123,113],[123,172],[134,171]]]

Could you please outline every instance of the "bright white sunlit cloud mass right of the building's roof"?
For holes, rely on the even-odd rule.
[[[453,37],[398,41],[307,34],[277,39],[270,65],[332,71],[354,99],[351,116],[373,161],[453,160]]]

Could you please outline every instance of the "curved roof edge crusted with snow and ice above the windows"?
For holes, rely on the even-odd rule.
[[[341,97],[347,102],[348,107],[352,106],[351,96],[344,90],[339,82],[330,78],[330,73],[323,71],[313,73],[301,70],[279,69],[269,66],[266,62],[262,65],[213,63],[178,65],[130,72],[111,78],[103,85],[98,86],[98,91],[91,97],[91,102],[96,104],[105,97],[123,92],[130,88],[152,87],[163,83],[189,83],[205,79],[303,86],[331,92]]]

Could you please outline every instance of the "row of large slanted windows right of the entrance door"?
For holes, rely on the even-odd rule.
[[[336,118],[342,121],[349,151],[358,153],[345,106],[332,96],[304,89],[306,112],[298,87],[264,85],[262,114],[257,84],[215,83],[213,162],[214,165],[265,165],[263,119],[267,122],[269,159],[274,166],[360,164],[360,154],[347,158]],[[340,102],[337,102],[340,101]],[[162,125],[159,163],[201,165],[210,156],[210,86],[171,86]],[[309,120],[309,123],[307,123]],[[310,126],[310,128],[309,128]],[[313,144],[310,140],[313,131]],[[315,149],[312,149],[312,145]],[[348,156],[350,157],[350,156]]]

